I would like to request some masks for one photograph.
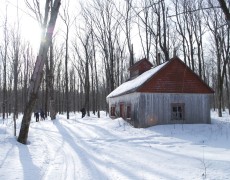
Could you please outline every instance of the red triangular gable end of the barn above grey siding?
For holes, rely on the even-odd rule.
[[[197,74],[178,57],[142,84],[137,92],[154,93],[214,93]]]

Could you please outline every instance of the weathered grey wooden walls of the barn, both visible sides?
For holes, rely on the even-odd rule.
[[[115,106],[120,117],[120,105],[131,106],[131,118],[124,119],[134,127],[157,124],[210,123],[210,94],[131,93],[109,98],[109,109]],[[184,119],[172,120],[172,103],[184,104]]]

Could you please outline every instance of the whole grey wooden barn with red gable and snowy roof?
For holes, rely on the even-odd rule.
[[[210,123],[214,91],[178,57],[155,68],[142,59],[129,71],[130,79],[107,96],[111,118],[137,128]]]

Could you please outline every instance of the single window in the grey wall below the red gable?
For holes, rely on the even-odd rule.
[[[171,107],[171,120],[184,120],[184,103],[172,103]]]

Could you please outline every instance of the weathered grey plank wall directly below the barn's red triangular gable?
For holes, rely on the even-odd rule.
[[[209,94],[142,93],[137,119],[139,127],[173,123],[210,123]],[[171,120],[171,104],[183,103],[184,121]]]

